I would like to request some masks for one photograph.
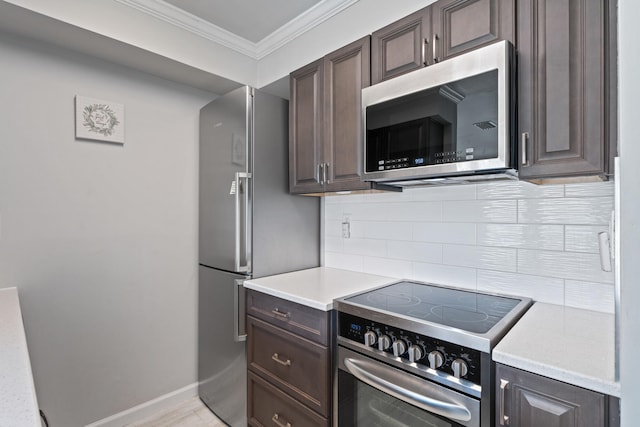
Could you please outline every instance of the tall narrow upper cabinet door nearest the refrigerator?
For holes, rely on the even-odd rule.
[[[323,60],[291,73],[289,101],[289,191],[323,191]]]

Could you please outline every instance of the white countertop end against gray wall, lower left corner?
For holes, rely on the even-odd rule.
[[[40,425],[18,290],[0,289],[0,426]]]

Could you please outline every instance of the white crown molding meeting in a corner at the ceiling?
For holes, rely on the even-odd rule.
[[[261,59],[359,0],[323,0],[259,41],[251,42],[163,0],[115,0],[253,59]]]

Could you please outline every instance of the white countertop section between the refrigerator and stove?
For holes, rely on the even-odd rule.
[[[393,277],[376,276],[356,271],[317,267],[247,280],[244,282],[244,286],[318,310],[329,311],[333,308],[334,298],[398,280]]]

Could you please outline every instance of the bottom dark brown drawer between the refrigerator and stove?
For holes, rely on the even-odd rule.
[[[247,402],[250,426],[328,426],[326,418],[296,402],[262,378],[249,372]]]

